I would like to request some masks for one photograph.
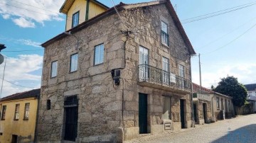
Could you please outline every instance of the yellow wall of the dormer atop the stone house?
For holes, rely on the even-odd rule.
[[[68,10],[67,20],[66,20],[66,30],[70,30],[72,28],[72,18],[73,14],[79,11],[79,24],[85,21],[86,15],[86,4],[87,0],[75,0],[73,5]],[[100,13],[106,11],[105,8],[95,4],[90,1],[89,4],[89,19],[97,16]]]

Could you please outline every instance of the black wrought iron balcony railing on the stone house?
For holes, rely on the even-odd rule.
[[[191,81],[168,71],[151,67],[148,64],[140,64],[138,70],[139,81],[161,84],[181,90],[191,89]]]

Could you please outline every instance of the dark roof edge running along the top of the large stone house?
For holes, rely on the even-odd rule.
[[[73,0],[66,0],[66,1],[73,1]],[[129,9],[129,8],[153,6],[153,5],[157,5],[157,4],[166,4],[166,7],[168,8],[171,17],[173,18],[174,23],[175,23],[176,27],[178,28],[178,31],[181,33],[181,37],[183,38],[184,42],[188,46],[188,50],[189,50],[190,54],[196,55],[196,52],[193,49],[191,42],[188,40],[188,36],[186,35],[185,30],[183,29],[183,26],[181,25],[181,21],[179,21],[178,16],[177,16],[176,12],[174,11],[174,7],[171,5],[170,0],[151,1],[151,2],[138,3],[138,4],[124,4],[121,2],[120,4],[118,4],[115,7],[118,9],[118,11],[122,11],[124,9]],[[94,18],[89,19],[88,21],[80,23],[80,25],[75,26],[74,28],[68,30],[67,32],[76,33],[81,29],[87,28],[88,25],[92,25],[93,23],[102,20],[102,18],[110,16],[114,13],[116,13],[114,7],[109,8],[109,9],[107,9],[107,11],[100,13],[99,15],[95,16]],[[50,45],[50,43],[55,42],[55,40],[65,38],[66,36],[68,36],[68,35],[66,35],[65,33],[60,33],[60,35],[55,36],[55,38],[52,38],[52,39],[44,42],[42,44],[42,47],[46,47],[47,45]]]

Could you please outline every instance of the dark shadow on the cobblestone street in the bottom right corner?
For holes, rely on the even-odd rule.
[[[228,128],[228,134],[213,141],[217,142],[255,142],[256,124],[240,127],[237,130]]]

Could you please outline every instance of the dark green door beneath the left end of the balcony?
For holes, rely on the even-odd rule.
[[[139,93],[139,134],[147,133],[147,95]]]

